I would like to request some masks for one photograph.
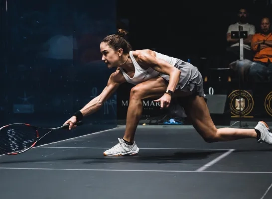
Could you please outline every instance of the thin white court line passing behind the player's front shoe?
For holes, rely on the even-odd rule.
[[[62,146],[48,146],[43,147],[40,146],[40,148],[59,148],[59,149],[109,149],[111,147],[62,147]],[[144,150],[216,150],[216,151],[229,151],[234,149],[196,149],[196,148],[140,148]]]

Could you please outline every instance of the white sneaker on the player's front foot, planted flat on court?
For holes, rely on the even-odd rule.
[[[104,152],[104,156],[124,156],[124,155],[136,155],[139,152],[139,148],[136,142],[133,145],[128,145],[123,139],[118,138],[119,143],[113,148]]]

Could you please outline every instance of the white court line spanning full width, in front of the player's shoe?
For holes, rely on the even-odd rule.
[[[157,173],[231,173],[231,174],[272,174],[272,172],[244,172],[244,171],[178,171],[178,170],[126,170],[126,169],[61,169],[61,168],[19,168],[0,167],[10,170],[51,170],[51,171],[112,171],[112,172],[157,172]]]

